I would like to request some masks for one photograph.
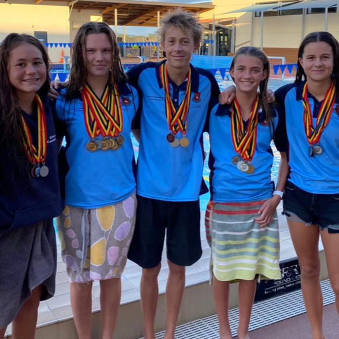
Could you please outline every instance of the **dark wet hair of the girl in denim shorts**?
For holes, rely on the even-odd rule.
[[[336,95],[339,97],[339,44],[335,37],[328,32],[312,32],[305,36],[298,51],[298,67],[296,69],[295,83],[300,83],[304,79],[307,80],[304,68],[299,61],[299,59],[303,58],[305,47],[308,44],[320,42],[324,42],[332,48],[333,69],[331,77],[335,84]]]

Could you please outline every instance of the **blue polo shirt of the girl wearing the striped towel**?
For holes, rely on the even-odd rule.
[[[215,202],[250,202],[266,200],[272,196],[274,183],[271,180],[273,164],[272,139],[280,152],[285,151],[286,132],[281,109],[270,106],[269,123],[266,114],[259,110],[258,136],[251,165],[252,174],[238,170],[232,163],[236,154],[231,134],[231,106],[216,105],[210,114],[209,138],[211,200]],[[247,122],[247,121],[246,121]],[[245,127],[246,127],[246,122]]]

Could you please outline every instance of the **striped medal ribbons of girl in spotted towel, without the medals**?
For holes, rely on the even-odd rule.
[[[116,84],[112,90],[106,86],[101,100],[88,84],[81,91],[81,96],[87,133],[92,139],[99,134],[103,137],[116,137],[121,133],[123,119]]]

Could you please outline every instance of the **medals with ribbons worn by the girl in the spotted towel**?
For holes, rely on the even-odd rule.
[[[108,84],[99,99],[89,84],[81,91],[83,116],[86,130],[91,138],[86,148],[95,152],[98,150],[117,150],[124,142],[121,135],[123,121],[119,92],[116,84]],[[99,136],[102,139],[99,139]]]

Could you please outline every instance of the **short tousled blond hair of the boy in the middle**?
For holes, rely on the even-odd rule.
[[[168,11],[160,22],[160,28],[158,34],[160,41],[163,43],[165,40],[165,34],[168,27],[174,26],[180,28],[183,32],[191,33],[195,46],[199,46],[203,27],[200,24],[198,18],[192,13],[185,12],[183,9],[178,8],[175,11]]]

